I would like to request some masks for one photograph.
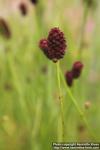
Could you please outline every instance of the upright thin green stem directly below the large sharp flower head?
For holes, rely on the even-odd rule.
[[[64,112],[63,112],[63,99],[61,95],[61,84],[60,84],[60,64],[59,61],[57,64],[57,80],[58,80],[58,88],[59,88],[59,102],[60,102],[60,113],[61,113],[61,124],[62,124],[62,142],[65,139],[65,123],[64,123]]]

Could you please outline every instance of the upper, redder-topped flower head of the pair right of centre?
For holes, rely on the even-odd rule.
[[[78,78],[82,72],[83,64],[80,61],[77,61],[73,64],[72,73],[73,78]]]

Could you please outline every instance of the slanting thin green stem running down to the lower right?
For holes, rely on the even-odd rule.
[[[64,86],[65,86],[65,88],[66,88],[66,90],[67,90],[67,93],[68,93],[68,95],[70,96],[70,98],[71,98],[71,100],[72,100],[72,103],[74,104],[74,106],[76,107],[76,109],[77,109],[77,111],[79,112],[80,116],[82,117],[82,119],[83,119],[85,125],[87,126],[87,129],[88,129],[90,135],[91,135],[94,139],[96,139],[96,136],[94,135],[92,129],[90,128],[90,125],[88,124],[88,121],[87,121],[87,119],[86,119],[86,117],[85,117],[85,114],[83,113],[83,111],[82,111],[81,108],[79,107],[79,105],[78,105],[78,103],[77,103],[77,100],[76,100],[76,99],[74,98],[74,96],[72,95],[72,93],[71,93],[70,89],[68,88],[68,86],[66,86],[66,82],[65,82],[65,79],[64,79],[64,77],[63,77],[63,74],[62,74],[61,70],[60,70],[60,76],[61,76],[61,79],[62,79],[62,81],[63,81],[63,83],[64,83]]]

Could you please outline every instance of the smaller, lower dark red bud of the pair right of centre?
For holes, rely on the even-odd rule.
[[[72,84],[73,84],[73,73],[72,73],[72,71],[67,71],[65,73],[65,79],[66,79],[68,86],[72,86]]]

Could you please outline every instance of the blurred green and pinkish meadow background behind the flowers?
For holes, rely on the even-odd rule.
[[[52,27],[67,39],[62,73],[81,60],[84,70],[71,92],[84,112],[90,135],[61,81],[65,142],[100,141],[100,1],[0,0],[0,150],[49,150],[61,141],[56,64],[39,49]],[[97,2],[97,4],[96,4]],[[24,3],[26,14],[20,9]],[[80,55],[81,54],[81,55]]]

